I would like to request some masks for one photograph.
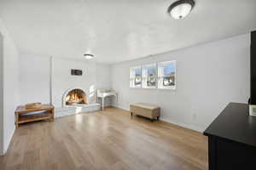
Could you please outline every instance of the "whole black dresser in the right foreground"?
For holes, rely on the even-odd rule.
[[[207,127],[210,170],[256,169],[256,117],[247,104],[230,103]]]

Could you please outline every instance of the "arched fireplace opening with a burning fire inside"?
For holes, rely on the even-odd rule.
[[[65,97],[66,105],[86,105],[86,95],[81,89],[73,89]]]

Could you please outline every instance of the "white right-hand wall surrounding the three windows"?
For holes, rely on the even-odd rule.
[[[229,102],[247,103],[249,50],[247,34],[112,65],[118,106],[128,110],[136,102],[160,105],[162,120],[202,131]],[[129,88],[131,66],[173,59],[177,90]]]

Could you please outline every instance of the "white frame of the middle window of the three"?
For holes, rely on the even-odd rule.
[[[148,86],[147,81],[148,81],[148,68],[154,68],[155,69],[155,86]],[[149,65],[143,65],[143,88],[157,88],[158,85],[158,69],[157,69],[157,64],[149,64]]]

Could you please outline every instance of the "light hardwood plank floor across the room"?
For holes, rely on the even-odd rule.
[[[2,169],[207,169],[207,138],[175,125],[106,108],[20,125]]]

